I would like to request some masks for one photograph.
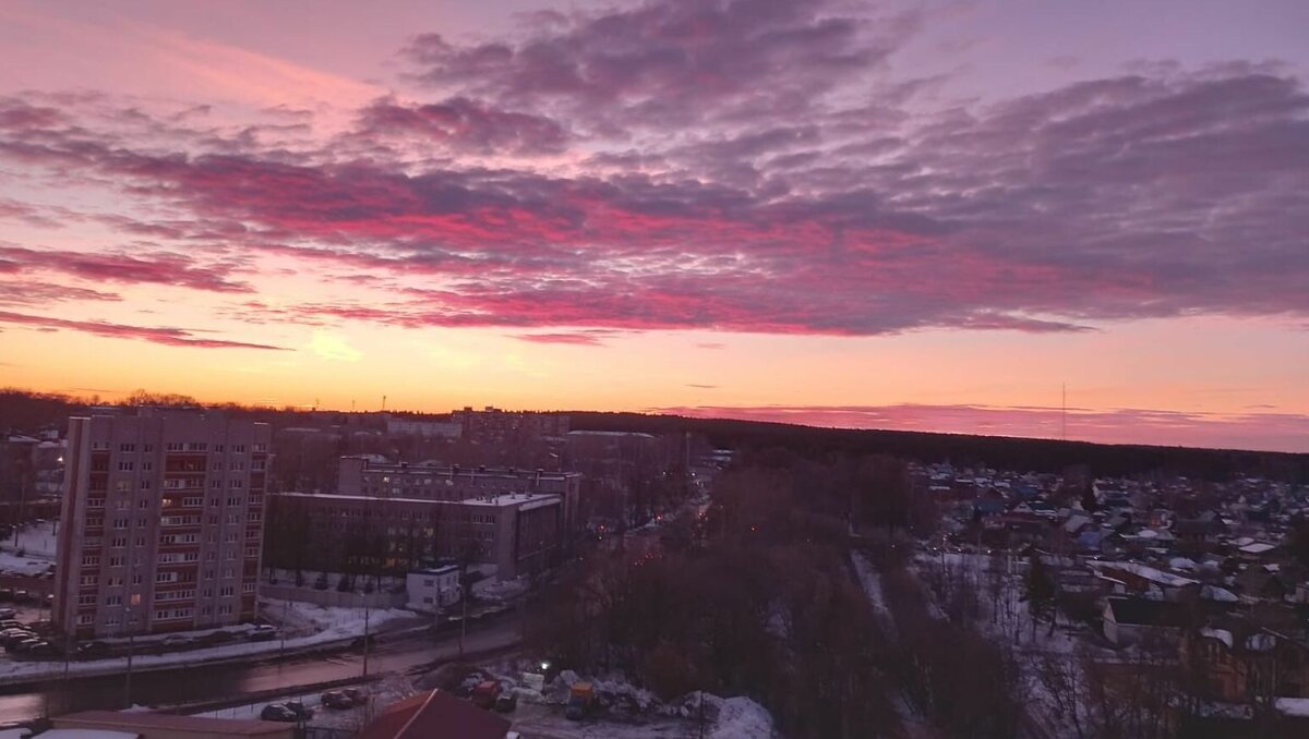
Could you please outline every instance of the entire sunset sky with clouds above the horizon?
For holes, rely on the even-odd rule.
[[[1306,33],[0,0],[0,385],[1309,451]]]

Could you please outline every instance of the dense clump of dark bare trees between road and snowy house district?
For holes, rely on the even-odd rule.
[[[851,511],[895,479],[880,468],[894,462],[778,462],[726,473],[704,518],[689,510],[658,547],[597,551],[565,569],[533,608],[529,642],[665,698],[751,696],[788,736],[897,735],[894,649],[847,562]],[[873,524],[908,518],[863,507]]]

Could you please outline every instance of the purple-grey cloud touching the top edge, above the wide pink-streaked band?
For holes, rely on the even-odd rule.
[[[597,131],[795,111],[880,64],[916,16],[881,26],[818,0],[664,0],[554,14],[521,41],[439,34],[406,56],[435,86],[569,111]],[[878,33],[880,31],[880,33]]]

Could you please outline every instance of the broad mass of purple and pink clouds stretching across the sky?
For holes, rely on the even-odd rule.
[[[1299,77],[1164,64],[945,101],[891,63],[929,22],[839,3],[662,0],[538,14],[493,41],[419,35],[403,58],[431,99],[378,98],[326,139],[102,97],[7,98],[0,162],[102,183],[137,209],[97,222],[154,246],[7,247],[0,273],[251,293],[242,264],[212,255],[291,259],[367,298],[258,296],[233,310],[573,344],[602,343],[588,330],[1309,317]],[[60,220],[12,200],[0,218]]]

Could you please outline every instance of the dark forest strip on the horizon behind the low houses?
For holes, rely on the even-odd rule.
[[[795,454],[812,458],[829,454],[888,454],[923,462],[952,462],[961,466],[1037,472],[1060,472],[1084,464],[1092,475],[1113,477],[1161,473],[1227,481],[1238,475],[1258,475],[1292,483],[1309,481],[1309,454],[829,429],[644,413],[572,412],[569,421],[573,429],[583,430],[692,432],[704,434],[719,447],[736,450],[785,447]]]

